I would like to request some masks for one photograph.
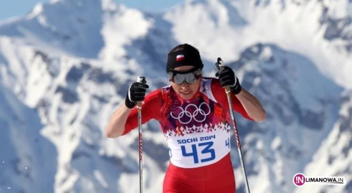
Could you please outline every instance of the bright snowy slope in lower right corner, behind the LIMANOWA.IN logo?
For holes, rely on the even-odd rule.
[[[297,192],[352,192],[352,92],[345,91],[341,102],[339,120],[322,142],[304,173],[309,176],[344,176],[346,186],[304,185],[304,191],[297,189]]]

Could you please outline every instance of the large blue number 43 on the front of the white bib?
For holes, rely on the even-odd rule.
[[[198,146],[201,149],[200,154],[207,155],[207,157],[201,159],[200,162],[203,163],[203,162],[212,161],[215,159],[215,150],[211,148],[213,145],[214,145],[214,142],[212,141],[192,144],[191,145],[192,150],[188,152],[186,151],[186,147],[184,145],[181,145],[182,155],[185,157],[193,156],[194,163],[199,163],[199,156],[197,151],[197,146]]]

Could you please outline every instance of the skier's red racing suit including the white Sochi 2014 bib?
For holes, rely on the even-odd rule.
[[[237,97],[231,98],[234,111],[253,120]],[[157,120],[169,146],[164,193],[235,192],[228,111],[225,89],[215,78],[203,77],[189,100],[182,99],[171,85],[146,95],[142,124]],[[133,108],[122,135],[138,127],[137,119],[137,108]]]

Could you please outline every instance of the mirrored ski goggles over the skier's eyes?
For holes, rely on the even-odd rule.
[[[167,74],[169,81],[175,82],[178,85],[182,85],[183,82],[190,85],[202,76],[202,69],[197,68],[195,70],[184,72],[168,69]]]

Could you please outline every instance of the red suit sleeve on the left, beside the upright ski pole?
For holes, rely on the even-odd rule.
[[[160,120],[160,109],[162,105],[162,93],[161,89],[152,91],[145,95],[142,103],[142,124],[148,122],[151,119]],[[126,135],[131,130],[138,127],[138,111],[137,107],[132,108],[130,114],[127,117],[125,124],[125,131],[122,135]]]

